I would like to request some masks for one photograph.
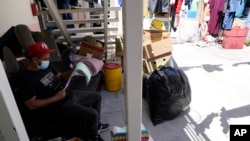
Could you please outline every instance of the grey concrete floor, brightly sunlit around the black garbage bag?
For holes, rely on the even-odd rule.
[[[173,57],[187,74],[192,102],[189,113],[153,126],[143,100],[142,124],[154,141],[229,141],[229,125],[250,124],[250,47],[224,49],[220,45],[198,47],[174,44]],[[104,122],[125,126],[122,91],[102,90]],[[110,132],[103,132],[111,141]]]

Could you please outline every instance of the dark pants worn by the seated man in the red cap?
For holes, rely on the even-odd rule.
[[[100,93],[73,90],[67,94],[70,94],[69,97],[47,106],[42,113],[39,113],[38,124],[44,127],[50,127],[52,124],[56,129],[62,127],[60,130],[64,132],[66,139],[72,137],[79,137],[82,140],[95,139],[100,122]]]

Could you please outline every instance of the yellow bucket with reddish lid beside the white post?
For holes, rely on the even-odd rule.
[[[106,63],[103,66],[106,90],[115,92],[121,89],[122,74],[121,65],[118,63]]]

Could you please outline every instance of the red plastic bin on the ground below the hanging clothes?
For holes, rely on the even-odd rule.
[[[248,28],[234,27],[224,30],[222,46],[225,49],[242,49],[248,34]]]

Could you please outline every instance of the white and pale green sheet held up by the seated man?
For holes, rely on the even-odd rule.
[[[72,79],[73,76],[78,75],[78,76],[86,76],[86,80],[87,80],[87,84],[89,83],[90,79],[91,79],[91,73],[89,71],[89,68],[82,62],[79,62],[76,64],[76,67],[74,69],[74,71],[72,72],[72,74],[70,75],[70,78],[68,80],[68,82],[66,83],[64,90],[67,89],[67,87],[70,84],[70,81]]]

